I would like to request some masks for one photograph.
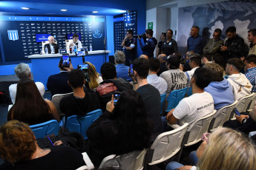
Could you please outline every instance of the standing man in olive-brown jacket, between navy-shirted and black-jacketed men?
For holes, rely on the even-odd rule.
[[[220,47],[223,46],[224,42],[220,39],[222,31],[217,28],[214,30],[211,38],[205,47],[203,47],[203,53],[216,54],[220,51]]]

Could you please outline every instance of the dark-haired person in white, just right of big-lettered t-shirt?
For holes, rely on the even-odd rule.
[[[188,83],[187,83],[187,86],[189,87],[190,86],[190,81],[191,81],[191,78],[193,77],[193,74],[194,74],[194,71],[196,69],[198,69],[200,67],[200,64],[201,64],[201,57],[199,54],[192,54],[192,55],[189,55],[189,66],[191,68],[191,70],[185,72],[187,77],[188,77]]]

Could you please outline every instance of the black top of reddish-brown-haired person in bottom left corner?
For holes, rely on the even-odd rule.
[[[26,152],[26,151],[24,151]],[[16,163],[12,166],[10,163],[1,165],[1,170],[70,170],[85,166],[82,154],[69,146],[55,146],[43,157],[33,160],[27,160],[22,163]]]

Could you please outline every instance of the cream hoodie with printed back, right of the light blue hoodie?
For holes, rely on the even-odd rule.
[[[229,75],[228,81],[232,84],[234,101],[238,101],[246,95],[251,95],[252,84],[242,73]]]

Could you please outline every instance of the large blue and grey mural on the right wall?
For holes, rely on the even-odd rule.
[[[246,44],[248,30],[256,28],[256,2],[249,0],[220,1],[211,4],[201,4],[191,7],[180,7],[178,13],[177,44],[187,47],[187,39],[193,25],[200,27],[200,35],[207,40],[212,38],[214,30],[223,30],[222,39],[226,38],[226,29],[234,26],[237,35],[242,37]]]

